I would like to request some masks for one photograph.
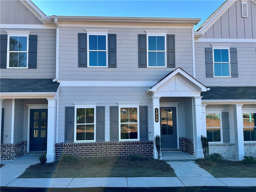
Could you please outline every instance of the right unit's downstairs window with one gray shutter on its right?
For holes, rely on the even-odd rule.
[[[222,122],[220,112],[206,112],[206,137],[209,142],[222,142]]]

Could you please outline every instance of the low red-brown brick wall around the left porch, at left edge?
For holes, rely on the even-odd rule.
[[[1,160],[13,160],[24,155],[25,141],[19,143],[1,144]]]

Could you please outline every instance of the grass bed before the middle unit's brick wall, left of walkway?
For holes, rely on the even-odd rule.
[[[151,157],[98,157],[31,165],[18,178],[62,177],[176,177],[176,174],[169,164]]]

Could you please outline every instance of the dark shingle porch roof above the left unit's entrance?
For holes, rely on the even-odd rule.
[[[0,79],[1,93],[8,92],[56,92],[59,83],[52,79]]]

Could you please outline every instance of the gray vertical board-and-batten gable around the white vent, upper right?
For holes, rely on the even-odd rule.
[[[202,38],[256,38],[256,5],[248,1],[248,17],[242,17],[241,1],[229,9],[203,34]]]

